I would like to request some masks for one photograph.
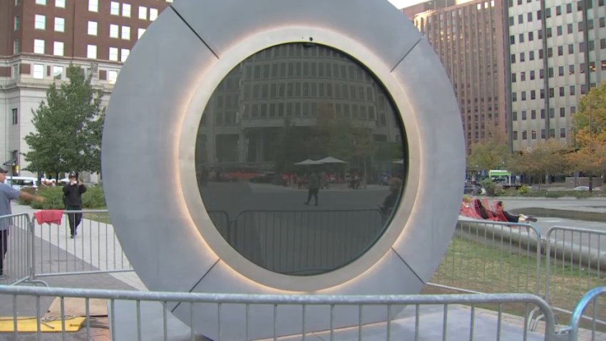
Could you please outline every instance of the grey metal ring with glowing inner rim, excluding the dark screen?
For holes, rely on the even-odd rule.
[[[195,185],[194,149],[202,110],[233,67],[269,46],[304,41],[349,54],[381,81],[404,122],[409,169],[394,218],[364,255],[329,273],[289,276],[251,263],[214,228]],[[455,228],[464,161],[448,77],[431,46],[387,1],[177,1],[120,71],[103,131],[103,185],[116,234],[143,283],[162,291],[416,293]],[[190,323],[189,307],[168,307]],[[244,335],[235,327],[244,325],[238,309],[223,307],[222,337]],[[272,308],[250,309],[259,319],[249,321],[250,337],[269,336],[273,322],[262,316],[272,316]],[[300,332],[301,309],[280,309],[279,334]],[[335,326],[357,323],[349,310],[337,308]],[[196,307],[195,329],[217,337],[216,313]],[[307,314],[306,330],[328,327],[327,308],[309,307]],[[384,309],[364,310],[364,322],[384,318]]]

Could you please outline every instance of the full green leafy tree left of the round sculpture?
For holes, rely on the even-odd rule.
[[[91,86],[80,66],[67,68],[68,82],[46,91],[31,123],[35,131],[25,137],[30,151],[24,153],[26,170],[58,173],[101,171],[101,134],[105,108],[101,91]]]

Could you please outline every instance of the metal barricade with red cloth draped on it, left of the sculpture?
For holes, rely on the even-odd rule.
[[[81,223],[71,238],[69,219]],[[38,225],[31,220],[32,277],[132,271],[107,210],[63,211],[60,224]]]

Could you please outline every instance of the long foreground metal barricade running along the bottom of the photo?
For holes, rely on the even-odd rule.
[[[197,305],[216,305],[216,337],[215,340],[252,340],[254,338],[251,326],[256,325],[259,319],[263,326],[267,326],[265,332],[269,333],[272,340],[277,340],[277,331],[279,325],[277,322],[280,312],[283,309],[296,309],[298,317],[292,322],[296,322],[295,327],[299,328],[296,334],[299,334],[303,340],[306,337],[322,338],[322,340],[341,339],[346,332],[347,338],[358,340],[451,340],[453,335],[456,340],[461,340],[465,337],[468,340],[500,340],[501,337],[515,340],[538,340],[543,337],[543,340],[555,340],[557,337],[555,332],[555,320],[553,311],[542,298],[530,294],[480,294],[480,295],[242,295],[242,294],[210,294],[210,293],[191,293],[191,292],[135,292],[135,291],[118,291],[118,290],[83,290],[73,288],[51,288],[51,287],[21,287],[21,286],[0,286],[0,302],[3,303],[2,308],[8,310],[12,316],[11,333],[17,340],[21,335],[19,332],[20,319],[26,318],[21,312],[23,308],[19,305],[23,300],[30,301],[33,297],[36,302],[36,340],[43,340],[41,332],[41,312],[44,307],[41,307],[41,302],[44,297],[59,297],[61,301],[60,316],[57,316],[61,324],[55,332],[61,331],[62,340],[66,339],[66,325],[68,320],[64,310],[64,300],[66,297],[82,297],[84,298],[83,317],[84,330],[79,334],[79,337],[85,337],[86,340],[91,339],[91,316],[90,302],[92,299],[109,300],[108,310],[110,317],[116,316],[115,307],[122,302],[131,302],[130,306],[134,309],[130,310],[129,318],[127,319],[133,325],[129,327],[135,330],[132,340],[145,340],[147,335],[145,332],[150,332],[150,327],[153,329],[155,340],[169,340],[168,331],[168,303],[180,302],[180,305],[185,305],[190,312],[195,311]],[[162,312],[158,315],[160,320],[145,320],[142,318],[142,305],[145,302],[159,302]],[[523,305],[526,310],[532,307],[537,307],[545,315],[545,325],[543,333],[530,332],[525,326],[528,323],[520,323],[517,328],[512,330],[511,325],[506,325],[508,315],[503,312],[508,305]],[[172,304],[171,304],[172,305]],[[353,322],[354,325],[347,327],[344,330],[334,328],[341,313],[351,315],[354,312],[358,316],[358,321],[364,320],[364,312],[366,309],[384,309],[386,315],[392,315],[392,310],[396,307],[406,305],[403,312],[400,312],[394,319],[389,319],[387,322],[374,323],[363,325],[360,322]],[[486,307],[486,305],[494,305],[495,312],[490,318],[486,318],[486,310],[479,308],[478,305]],[[234,318],[232,315],[235,310],[232,307],[241,307],[237,310],[243,316]],[[230,307],[230,309],[227,309]],[[263,307],[268,310],[267,315],[252,316],[251,312],[258,307]],[[318,307],[322,307],[323,311],[327,311],[328,326],[326,330],[320,332],[309,332],[309,320],[312,319],[312,312],[317,311]],[[431,308],[430,313],[426,309]],[[5,311],[6,313],[6,311]],[[192,315],[190,315],[192,316]],[[354,315],[355,316],[355,315]],[[450,318],[449,318],[450,317]],[[211,317],[212,318],[212,317]],[[437,319],[441,319],[441,322]],[[225,320],[229,321],[229,325]],[[255,324],[251,322],[255,320]],[[238,325],[234,325],[235,321],[239,321]],[[117,327],[123,320],[118,318],[110,318],[108,325],[111,330],[111,340],[118,340],[116,335]],[[128,323],[127,322],[127,323]],[[214,323],[214,322],[213,322]],[[194,328],[189,331],[190,340],[198,340],[199,335],[195,334],[195,317],[190,317],[189,325],[194,325]],[[466,333],[466,334],[462,334]],[[503,336],[505,335],[505,336]]]

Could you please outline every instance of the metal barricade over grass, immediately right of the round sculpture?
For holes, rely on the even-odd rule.
[[[540,232],[530,224],[458,220],[433,286],[463,292],[528,292],[538,295]]]

